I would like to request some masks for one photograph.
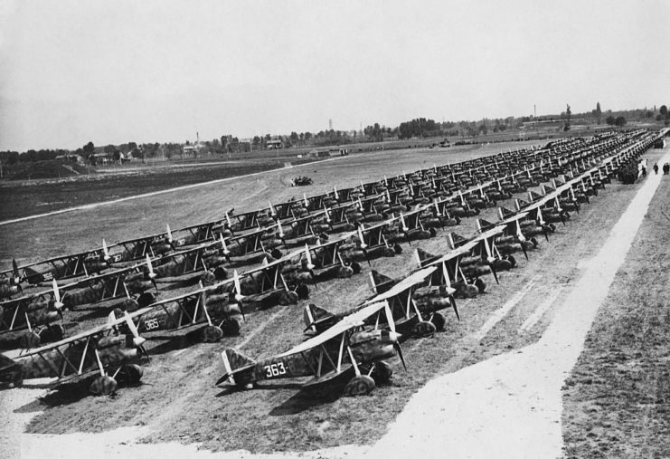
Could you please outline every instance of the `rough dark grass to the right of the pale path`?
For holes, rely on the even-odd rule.
[[[566,457],[670,456],[668,196],[665,176],[563,387]]]

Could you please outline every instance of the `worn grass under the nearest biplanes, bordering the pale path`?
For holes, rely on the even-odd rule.
[[[580,257],[598,251],[637,187],[608,186],[590,205],[582,207],[579,215],[571,215],[566,226],[559,225],[549,243],[540,241],[538,249],[529,253],[529,261],[518,255],[519,267],[500,273],[500,285],[489,276],[485,295],[458,301],[461,321],[445,311],[448,323],[444,332],[432,339],[407,341],[403,351],[408,372],[395,362],[392,383],[378,387],[368,397],[341,398],[336,388],[333,392],[306,393],[300,390],[299,381],[265,383],[250,391],[213,387],[220,374],[218,355],[222,349],[237,347],[258,358],[300,342],[305,306],[301,302],[250,314],[240,337],[218,344],[186,347],[179,339],[153,337],[149,351],[154,358],[146,367],[144,384],[123,388],[113,398],[73,397],[62,391],[44,397],[36,406],[24,407],[44,409],[33,418],[28,432],[64,434],[148,426],[151,434],[144,438],[146,442],[197,443],[215,451],[309,451],[370,445],[382,437],[410,397],[431,378],[537,341],[551,321],[552,308],[523,332],[522,325],[548,295],[556,294],[560,299],[569,291],[571,282],[580,275]],[[464,220],[461,226],[455,228],[461,234],[475,231],[474,219]],[[445,253],[446,234],[440,232],[433,239],[412,243],[412,247],[405,244],[404,253],[375,260],[373,267],[393,277],[406,274],[414,266],[413,247]],[[331,311],[344,311],[362,301],[370,294],[369,269],[364,267],[363,274],[351,280],[320,284],[309,301]],[[525,294],[508,314],[488,322],[516,292]]]

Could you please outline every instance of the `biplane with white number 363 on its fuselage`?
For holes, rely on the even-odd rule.
[[[363,320],[379,316],[382,311],[392,324],[388,304],[385,301],[373,303],[320,335],[269,359],[255,361],[238,350],[225,349],[221,354],[223,375],[216,385],[228,381],[236,387],[251,388],[263,380],[311,377],[303,387],[315,387],[349,379],[344,395],[368,394],[377,383],[391,378],[392,368],[384,360],[398,355],[404,366],[399,333],[366,330]]]

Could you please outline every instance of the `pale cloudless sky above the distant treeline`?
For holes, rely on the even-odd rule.
[[[0,0],[0,150],[670,103],[670,1]]]

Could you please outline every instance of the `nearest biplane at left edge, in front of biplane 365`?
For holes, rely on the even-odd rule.
[[[138,364],[148,355],[143,347],[145,340],[132,319],[145,312],[125,313],[118,319],[110,315],[104,325],[29,350],[15,359],[0,354],[0,382],[21,387],[25,379],[55,378],[52,385],[58,388],[93,378],[89,390],[96,395],[114,393],[121,381],[137,383],[142,378]],[[122,326],[130,334],[121,333]]]

